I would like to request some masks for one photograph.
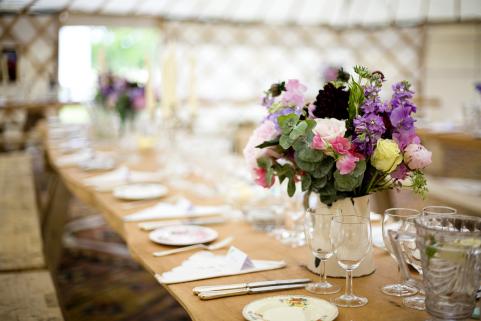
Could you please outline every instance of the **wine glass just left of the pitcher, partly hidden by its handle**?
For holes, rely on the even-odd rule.
[[[420,213],[418,210],[409,208],[390,208],[384,212],[384,219],[382,221],[382,237],[386,249],[388,250],[389,254],[391,254],[391,257],[396,261],[398,266],[399,262],[394,255],[388,232],[390,230],[403,232],[407,228],[406,220],[410,218],[416,218],[419,215]],[[401,282],[383,286],[382,292],[392,296],[410,296],[416,294],[418,289],[415,286],[408,284],[407,281],[407,276],[402,275]]]

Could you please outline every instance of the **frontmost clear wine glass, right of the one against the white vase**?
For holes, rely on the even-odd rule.
[[[330,238],[337,263],[346,270],[345,293],[333,302],[340,307],[366,305],[367,298],[352,292],[352,271],[359,267],[372,246],[369,218],[354,215],[333,217]]]

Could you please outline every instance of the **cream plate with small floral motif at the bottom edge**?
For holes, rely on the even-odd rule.
[[[242,310],[249,321],[332,321],[338,314],[334,304],[304,295],[272,296],[253,301]]]

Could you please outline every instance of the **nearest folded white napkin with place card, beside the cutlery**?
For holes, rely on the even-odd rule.
[[[284,261],[252,260],[246,253],[231,246],[226,255],[215,255],[208,251],[197,252],[180,266],[162,274],[155,274],[155,278],[162,284],[173,284],[274,270],[285,266]]]

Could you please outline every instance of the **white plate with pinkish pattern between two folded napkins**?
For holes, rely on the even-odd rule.
[[[197,225],[171,225],[158,228],[149,233],[152,242],[184,246],[207,243],[217,238],[217,232],[211,228]]]

